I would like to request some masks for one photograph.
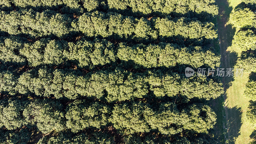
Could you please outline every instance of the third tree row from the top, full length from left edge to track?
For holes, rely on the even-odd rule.
[[[80,67],[104,65],[120,60],[132,60],[146,68],[190,65],[194,68],[206,65],[218,67],[220,57],[202,47],[183,47],[177,44],[125,44],[115,46],[105,39],[94,41],[81,39],[76,43],[42,38],[30,43],[20,37],[3,37],[0,40],[0,60],[31,66],[58,65],[67,60],[75,61]]]

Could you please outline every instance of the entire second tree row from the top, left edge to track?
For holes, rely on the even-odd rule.
[[[32,9],[2,11],[0,15],[0,29],[11,35],[65,37],[69,33],[80,31],[86,36],[123,37],[138,41],[173,36],[193,40],[217,38],[213,23],[202,23],[189,18],[152,18],[147,20],[146,18],[127,17],[114,12],[96,11],[84,13],[74,20],[67,14],[51,10],[34,12]]]

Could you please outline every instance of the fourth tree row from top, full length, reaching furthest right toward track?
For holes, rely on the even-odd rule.
[[[107,101],[142,98],[150,91],[156,97],[185,97],[209,100],[223,92],[221,84],[204,76],[186,78],[178,73],[150,71],[132,73],[124,69],[98,71],[83,75],[78,71],[41,68],[20,76],[10,70],[0,73],[0,91],[15,94],[76,99],[87,96]],[[149,91],[150,90],[150,91]]]

